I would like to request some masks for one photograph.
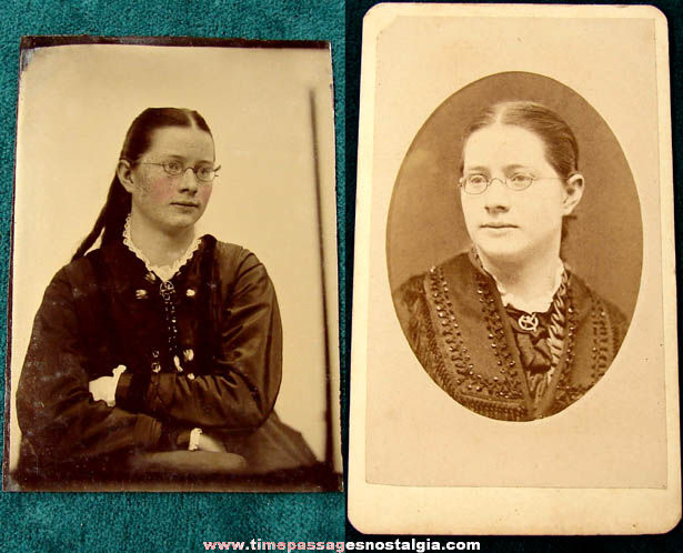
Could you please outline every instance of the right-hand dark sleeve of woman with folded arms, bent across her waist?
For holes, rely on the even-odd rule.
[[[117,404],[204,430],[251,431],[268,419],[282,375],[280,311],[265,268],[242,252],[237,269],[219,269],[230,276],[221,278],[220,343],[204,374],[159,373],[149,382],[123,374]]]

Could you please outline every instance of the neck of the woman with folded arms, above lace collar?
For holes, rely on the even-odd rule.
[[[153,265],[173,264],[190,248],[194,240],[194,227],[188,227],[177,232],[168,233],[145,224],[142,217],[130,217],[130,238]]]

